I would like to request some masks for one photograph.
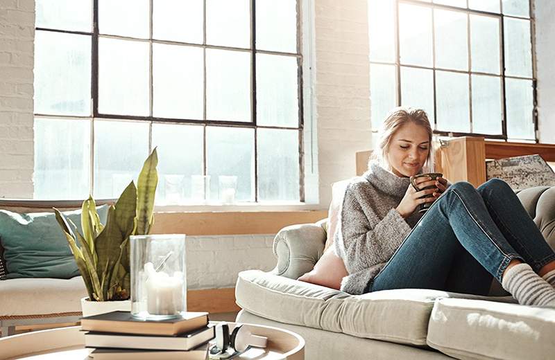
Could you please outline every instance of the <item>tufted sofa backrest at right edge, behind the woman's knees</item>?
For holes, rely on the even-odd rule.
[[[555,250],[555,186],[536,186],[517,193],[520,202]]]

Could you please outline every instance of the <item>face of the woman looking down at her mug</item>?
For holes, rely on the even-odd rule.
[[[429,153],[429,138],[425,127],[407,123],[400,127],[387,151],[391,171],[398,177],[411,177],[424,166]]]

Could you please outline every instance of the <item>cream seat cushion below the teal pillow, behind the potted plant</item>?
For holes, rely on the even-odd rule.
[[[83,278],[23,278],[0,281],[0,318],[80,312],[87,296]]]

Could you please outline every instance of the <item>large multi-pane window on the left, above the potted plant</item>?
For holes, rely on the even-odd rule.
[[[296,0],[37,0],[35,198],[304,201]],[[230,200],[229,193],[225,200]]]

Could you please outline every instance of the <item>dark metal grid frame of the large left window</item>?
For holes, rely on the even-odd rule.
[[[168,40],[153,39],[153,2],[154,0],[149,0],[149,17],[148,17],[148,27],[149,35],[148,39],[142,39],[137,37],[128,37],[121,35],[103,35],[99,32],[99,0],[92,0],[92,31],[86,32],[81,30],[62,30],[59,28],[43,28],[35,26],[36,31],[49,31],[53,33],[66,33],[74,35],[87,35],[91,37],[91,100],[92,100],[92,110],[89,116],[75,116],[75,115],[60,115],[60,114],[40,114],[34,113],[35,118],[43,119],[73,119],[73,120],[90,120],[90,187],[91,193],[94,193],[94,122],[95,120],[131,120],[131,121],[146,121],[149,123],[149,135],[148,135],[148,152],[152,151],[152,127],[155,123],[160,124],[176,124],[176,125],[199,125],[203,126],[203,175],[207,175],[207,126],[210,127],[232,127],[232,128],[250,128],[254,129],[254,141],[253,141],[253,162],[254,162],[254,172],[253,172],[253,183],[254,183],[254,199],[250,201],[238,201],[237,205],[241,206],[257,206],[261,204],[259,202],[259,179],[258,179],[258,145],[257,145],[257,129],[283,129],[283,130],[296,130],[298,132],[298,166],[299,166],[299,200],[298,201],[282,201],[278,200],[278,203],[284,202],[284,204],[294,203],[302,204],[305,203],[305,109],[304,109],[304,94],[303,89],[305,84],[303,83],[303,64],[305,62],[305,56],[303,54],[303,26],[304,18],[302,14],[303,7],[306,6],[305,1],[296,0],[296,53],[288,53],[282,51],[267,51],[260,50],[256,48],[256,2],[257,0],[248,0],[250,7],[250,40],[249,48],[238,48],[232,46],[216,46],[210,45],[206,42],[206,10],[207,1],[203,0],[203,43],[194,44],[187,42],[176,42]],[[149,46],[149,58],[148,58],[148,116],[135,116],[135,115],[121,115],[121,114],[105,114],[99,112],[99,39],[110,38],[110,39],[123,39],[133,42],[148,42]],[[188,118],[162,118],[153,116],[153,44],[169,44],[177,46],[194,46],[198,48],[203,48],[203,120],[198,119],[188,119]],[[237,121],[237,120],[207,120],[207,83],[206,83],[206,50],[207,49],[217,49],[224,51],[241,51],[250,53],[250,121]],[[266,55],[281,55],[287,57],[296,58],[297,63],[297,101],[298,101],[298,126],[275,126],[275,125],[258,125],[257,124],[257,81],[256,81],[256,57],[257,54]],[[311,147],[311,145],[308,145]],[[310,150],[311,151],[311,150]],[[185,206],[197,206],[191,205],[188,199]],[[268,203],[273,204],[275,201],[263,201],[262,204]],[[198,204],[198,206],[206,207],[205,204]]]

